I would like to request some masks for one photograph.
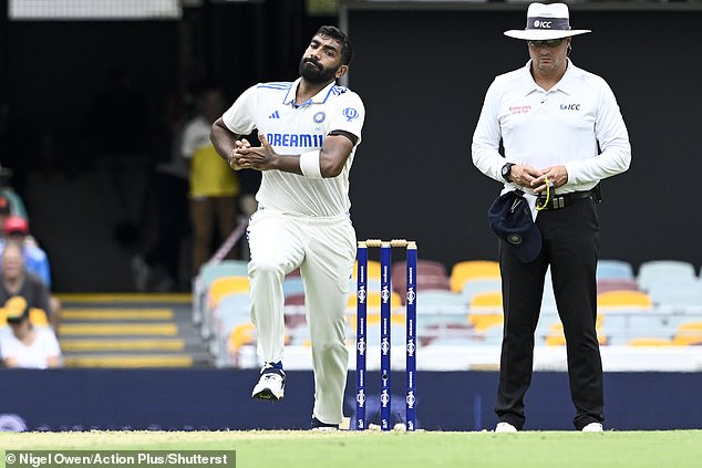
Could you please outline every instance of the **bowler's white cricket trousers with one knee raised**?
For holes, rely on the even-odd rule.
[[[314,370],[314,416],[343,418],[349,352],[344,312],[355,261],[355,231],[348,216],[311,218],[259,209],[249,223],[251,322],[257,352],[282,361],[285,275],[300,268]]]

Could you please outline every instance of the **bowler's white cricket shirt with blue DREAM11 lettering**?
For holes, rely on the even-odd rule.
[[[262,132],[277,154],[299,155],[320,149],[331,131],[345,131],[359,139],[338,177],[311,179],[281,170],[262,171],[256,195],[259,206],[298,216],[338,216],[351,208],[349,173],[361,143],[365,108],[361,97],[344,86],[330,83],[308,102],[296,106],[300,79],[259,83],[245,91],[223,115],[227,127],[248,135]]]

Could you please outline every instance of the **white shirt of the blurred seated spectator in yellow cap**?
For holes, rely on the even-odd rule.
[[[19,341],[10,330],[0,333],[0,356],[14,357],[19,367],[47,368],[47,358],[61,356],[59,341],[50,329],[37,327],[37,336],[31,345]]]

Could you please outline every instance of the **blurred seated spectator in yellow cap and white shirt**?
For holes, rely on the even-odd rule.
[[[24,298],[14,295],[4,303],[12,333],[0,334],[0,357],[7,367],[49,368],[61,365],[61,347],[53,331],[34,326]]]

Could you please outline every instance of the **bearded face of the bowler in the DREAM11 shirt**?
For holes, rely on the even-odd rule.
[[[300,60],[300,75],[314,84],[330,83],[347,72],[341,63],[341,45],[335,39],[316,35]]]

